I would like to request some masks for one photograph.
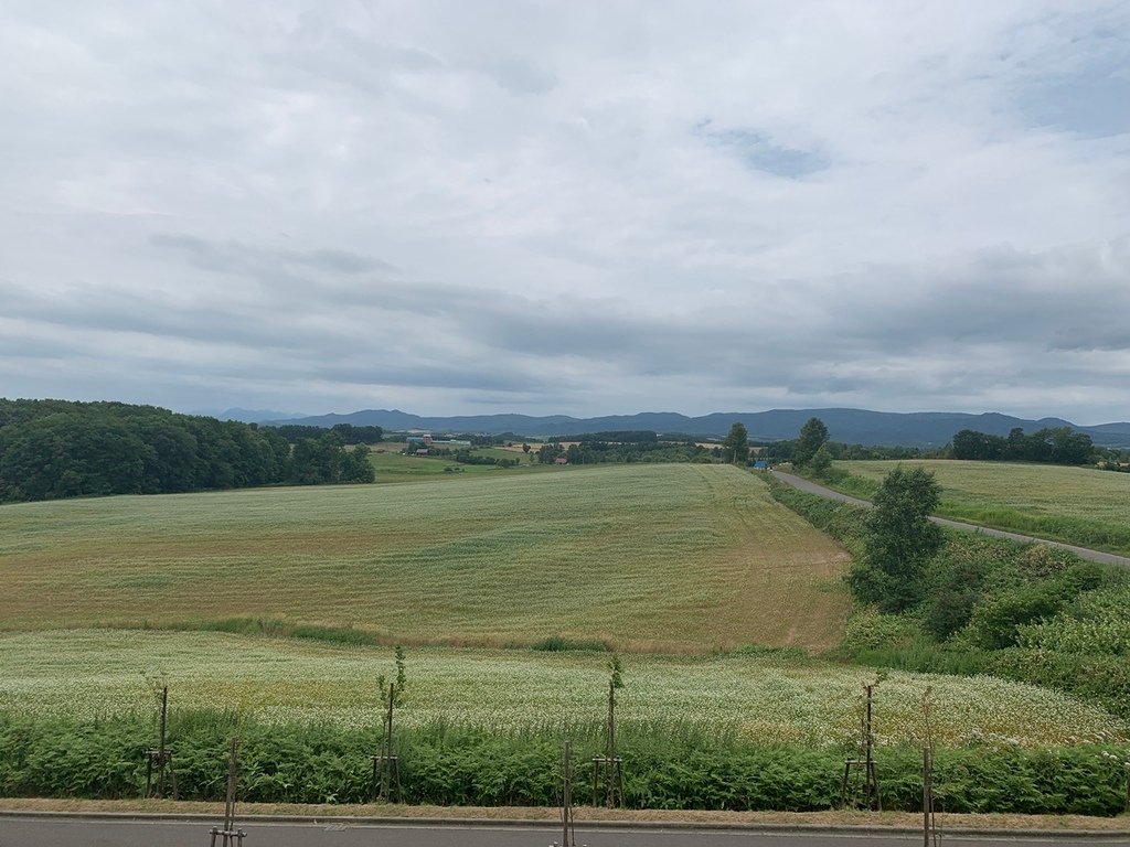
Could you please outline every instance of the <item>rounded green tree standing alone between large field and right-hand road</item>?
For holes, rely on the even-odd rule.
[[[875,495],[867,516],[863,556],[852,566],[847,584],[864,603],[883,612],[902,612],[924,593],[925,564],[942,543],[941,529],[930,522],[941,487],[922,468],[895,468]]]

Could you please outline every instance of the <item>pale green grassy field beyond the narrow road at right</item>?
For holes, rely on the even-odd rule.
[[[877,484],[897,464],[855,461],[834,466]],[[1130,555],[1128,473],[941,459],[902,464],[933,471],[942,488],[938,512],[947,517]],[[867,489],[864,483],[850,492],[869,496]]]

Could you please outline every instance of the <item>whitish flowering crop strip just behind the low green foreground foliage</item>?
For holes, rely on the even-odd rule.
[[[375,680],[391,650],[217,632],[68,630],[0,635],[0,710],[90,718],[154,708],[163,676],[174,708],[233,709],[268,722],[379,723]],[[503,733],[592,725],[605,716],[609,656],[427,647],[409,649],[403,726],[435,721]],[[770,744],[858,737],[861,686],[875,672],[816,660],[623,656],[625,727],[697,728]],[[879,743],[918,743],[922,697],[941,744],[1051,746],[1119,742],[1127,727],[1068,696],[992,678],[893,672],[876,689]]]

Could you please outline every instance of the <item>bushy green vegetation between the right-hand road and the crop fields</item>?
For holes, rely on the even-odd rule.
[[[773,482],[773,495],[871,567],[869,513]],[[898,604],[862,605],[836,654],[1069,691],[1130,716],[1130,573],[1061,549],[945,532]],[[867,594],[859,600],[873,602]]]

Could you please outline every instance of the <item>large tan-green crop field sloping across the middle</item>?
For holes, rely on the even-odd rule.
[[[823,648],[846,564],[723,465],[55,500],[0,507],[0,628],[268,617],[406,644]]]

